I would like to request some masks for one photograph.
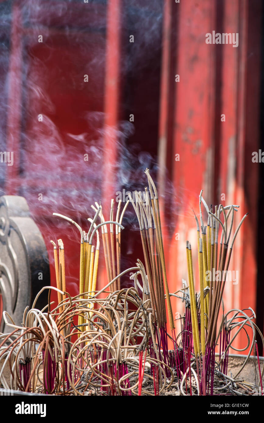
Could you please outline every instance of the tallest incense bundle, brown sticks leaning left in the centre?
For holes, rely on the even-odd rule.
[[[143,201],[142,196],[137,191],[135,192],[135,202],[133,201],[131,195],[129,195],[129,199],[135,209],[139,223],[151,308],[153,310],[154,317],[157,320],[159,328],[164,328],[166,326],[166,294],[170,329],[173,330],[174,321],[165,268],[158,193],[154,181],[149,174],[148,168],[145,170],[145,173],[148,178],[149,188],[148,190],[148,188],[145,187],[146,201]]]

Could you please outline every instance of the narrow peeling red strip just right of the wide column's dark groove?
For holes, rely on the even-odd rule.
[[[239,51],[245,48],[245,34],[239,31],[239,1],[232,0],[223,4],[223,26],[220,28],[222,33],[239,33],[238,47],[232,47],[231,44],[217,45],[222,57],[220,80],[221,92],[220,108],[217,107],[216,121],[219,130],[217,146],[217,157],[215,158],[215,180],[217,181],[217,192],[215,201],[217,204],[239,204],[236,202],[236,145],[237,145],[237,113],[238,113],[238,75],[239,75]],[[245,63],[245,62],[244,62]],[[242,87],[243,89],[243,87]],[[221,120],[221,115],[225,115],[225,121]],[[225,200],[223,199],[225,195]],[[241,211],[236,212],[235,222],[241,219]],[[239,239],[236,239],[234,245],[235,253],[239,250]],[[238,264],[239,265],[239,264]],[[234,257],[231,260],[230,270],[236,270]],[[238,304],[238,287],[232,282],[225,283],[224,304],[225,310]]]

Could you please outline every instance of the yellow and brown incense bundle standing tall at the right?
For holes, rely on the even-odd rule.
[[[226,276],[228,275],[228,266],[230,263],[231,253],[234,246],[236,235],[241,227],[247,214],[242,217],[238,227],[234,231],[234,236],[229,247],[231,231],[234,222],[234,211],[237,211],[239,206],[230,205],[223,207],[221,204],[215,206],[214,213],[209,210],[206,202],[200,193],[200,224],[195,215],[197,225],[197,241],[198,241],[198,264],[200,277],[200,310],[197,310],[197,302],[194,290],[194,278],[192,268],[192,250],[191,244],[187,241],[187,266],[190,288],[190,308],[192,318],[192,332],[195,355],[205,354],[205,346],[213,347],[217,336],[217,319],[219,315],[220,305],[223,298],[223,290],[225,287]],[[208,214],[207,222],[207,239],[206,239],[206,225],[203,224],[201,203],[205,206]],[[223,213],[223,222],[220,220],[221,213]],[[230,222],[228,222],[230,219]],[[228,224],[229,223],[229,224]],[[201,233],[201,236],[200,236]],[[218,242],[220,239],[220,248],[218,252]],[[228,250],[229,247],[229,250]],[[217,277],[212,277],[212,275]],[[205,292],[205,295],[203,293]],[[203,299],[204,297],[204,299]],[[198,330],[198,312],[201,316],[201,330],[199,338]]]

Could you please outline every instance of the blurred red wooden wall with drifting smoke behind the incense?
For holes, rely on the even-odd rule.
[[[108,216],[118,191],[143,191],[149,167],[170,292],[187,279],[185,241],[196,246],[191,208],[198,214],[201,189],[209,205],[240,205],[234,226],[249,212],[225,310],[250,306],[263,332],[264,165],[252,162],[264,151],[263,16],[261,0],[0,1],[0,149],[14,152],[13,166],[0,163],[0,195],[26,198],[52,285],[50,239],[62,238],[67,288],[78,293],[79,234],[52,212],[85,229],[94,201]],[[206,44],[212,31],[238,33],[238,46]],[[121,270],[143,258],[131,205],[123,222]],[[196,282],[199,290],[197,273]],[[180,300],[172,305],[183,313]]]

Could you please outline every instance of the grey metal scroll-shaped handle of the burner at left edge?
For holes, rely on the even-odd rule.
[[[30,217],[27,201],[16,195],[0,197],[0,294],[3,310],[21,324],[26,306],[31,306],[38,291],[50,285],[50,266],[44,239]],[[47,292],[36,307],[47,305]],[[11,328],[0,323],[0,332]]]

